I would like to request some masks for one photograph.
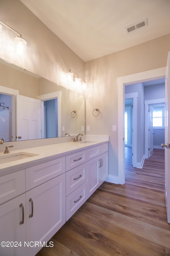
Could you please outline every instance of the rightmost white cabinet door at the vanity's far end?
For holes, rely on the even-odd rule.
[[[100,155],[101,166],[99,168],[100,172],[100,185],[107,179],[108,177],[108,152]]]

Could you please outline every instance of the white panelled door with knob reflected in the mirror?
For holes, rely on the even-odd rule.
[[[16,140],[41,139],[41,101],[16,95],[16,113]]]

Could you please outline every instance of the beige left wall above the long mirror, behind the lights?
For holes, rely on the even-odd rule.
[[[27,41],[27,58],[16,59],[8,45],[0,47],[0,58],[6,59],[41,77],[66,86],[69,69],[84,77],[84,62],[63,43],[19,0],[0,1],[0,20],[23,35]],[[11,34],[11,30],[9,30]],[[16,34],[14,35],[16,36]]]

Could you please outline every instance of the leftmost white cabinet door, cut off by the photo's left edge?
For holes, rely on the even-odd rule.
[[[23,208],[20,204],[22,204]],[[23,221],[23,210],[25,211],[25,194],[15,197],[0,206],[0,240],[1,242],[11,242],[10,245],[7,243],[9,247],[0,246],[0,255],[25,255],[25,219],[23,224],[20,224]]]

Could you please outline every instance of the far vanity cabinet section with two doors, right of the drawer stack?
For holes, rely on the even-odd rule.
[[[89,198],[108,177],[108,143],[88,149],[87,159],[91,159],[87,161],[87,198]]]

